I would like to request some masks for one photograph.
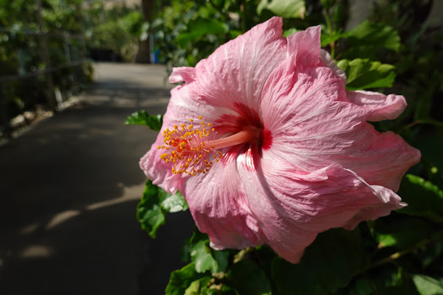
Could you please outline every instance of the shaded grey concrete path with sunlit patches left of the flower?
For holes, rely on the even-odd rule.
[[[193,222],[170,214],[152,240],[135,208],[155,140],[125,126],[163,114],[163,66],[96,64],[80,102],[0,147],[0,294],[163,294]]]

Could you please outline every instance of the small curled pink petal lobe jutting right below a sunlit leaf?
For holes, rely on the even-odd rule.
[[[371,110],[368,121],[392,120],[397,118],[406,108],[406,100],[403,96],[372,91],[348,91],[347,98],[350,102]]]

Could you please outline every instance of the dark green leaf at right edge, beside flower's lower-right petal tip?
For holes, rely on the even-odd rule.
[[[427,217],[434,222],[443,222],[443,192],[422,177],[405,175],[399,195],[408,206],[398,213]]]

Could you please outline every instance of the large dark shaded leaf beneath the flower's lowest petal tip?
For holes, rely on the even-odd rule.
[[[319,294],[345,287],[360,269],[363,253],[358,231],[331,229],[306,248],[299,264],[272,261],[272,278],[279,293]]]

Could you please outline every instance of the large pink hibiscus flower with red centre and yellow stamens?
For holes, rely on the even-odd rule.
[[[397,118],[403,96],[346,91],[320,26],[281,34],[274,17],[173,69],[184,84],[140,166],[180,190],[214,249],[266,243],[296,263],[318,233],[406,206],[394,191],[420,154],[367,123]]]

